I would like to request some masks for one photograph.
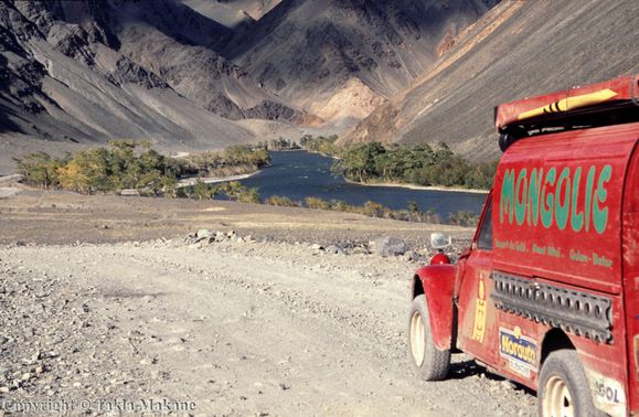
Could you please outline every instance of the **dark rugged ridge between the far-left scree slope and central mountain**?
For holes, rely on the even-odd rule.
[[[172,0],[142,0],[109,12],[117,13],[119,52],[206,110],[233,120],[308,119],[220,54],[233,31],[216,21]]]

